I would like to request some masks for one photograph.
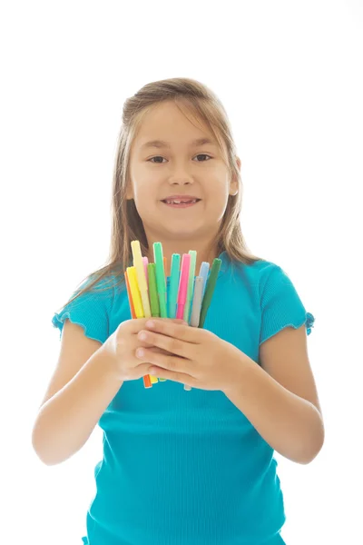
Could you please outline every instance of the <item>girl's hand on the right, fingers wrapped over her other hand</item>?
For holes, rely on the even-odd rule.
[[[150,326],[150,323],[153,326]],[[152,318],[148,330],[138,333],[141,341],[170,354],[136,350],[141,362],[152,363],[149,373],[170,381],[181,382],[201,390],[227,391],[238,381],[246,354],[218,335],[187,324]],[[150,330],[150,331],[149,331]]]

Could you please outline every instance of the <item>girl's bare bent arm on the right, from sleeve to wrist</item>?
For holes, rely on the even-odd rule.
[[[304,343],[303,326],[282,330],[261,345],[264,369],[240,352],[234,380],[223,390],[275,451],[302,464],[312,461],[324,442]]]

